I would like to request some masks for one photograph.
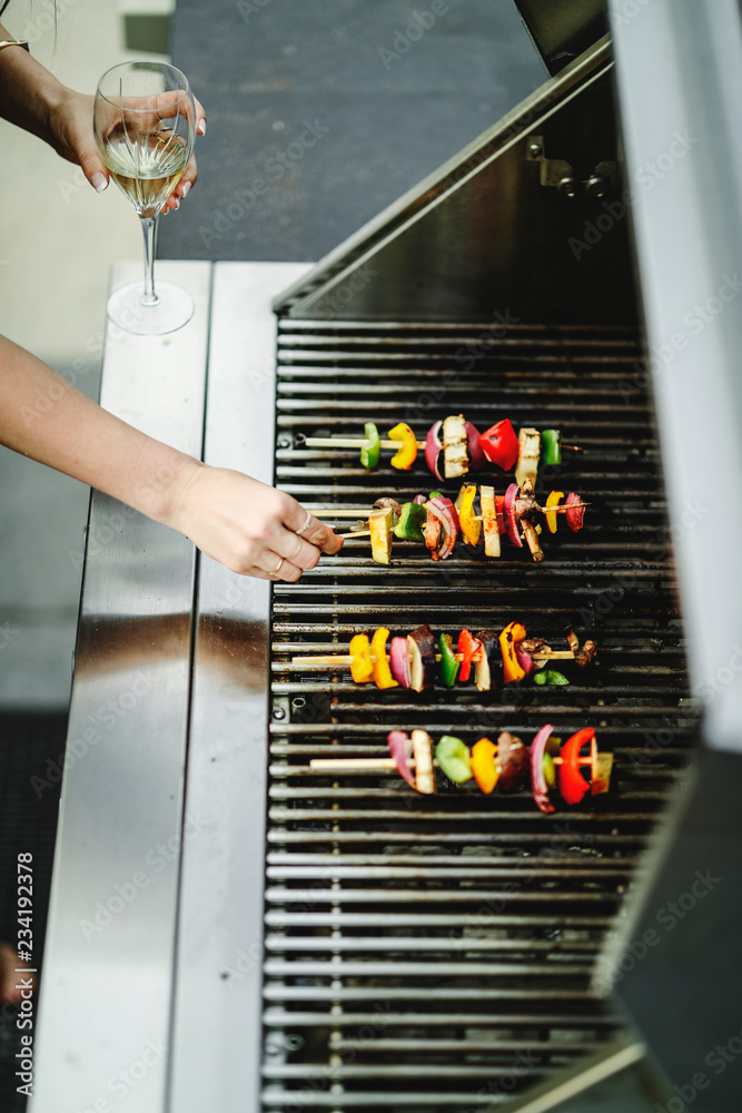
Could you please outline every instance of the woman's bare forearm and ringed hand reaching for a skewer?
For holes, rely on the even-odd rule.
[[[276,578],[298,580],[320,550],[343,544],[296,499],[140,433],[4,337],[0,443],[179,530],[246,575],[270,579],[283,558]]]

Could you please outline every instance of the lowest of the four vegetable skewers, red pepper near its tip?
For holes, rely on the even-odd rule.
[[[423,795],[436,791],[435,769],[438,768],[456,785],[474,778],[479,789],[489,795],[496,785],[504,791],[522,787],[530,771],[531,789],[538,808],[545,814],[554,811],[550,791],[557,784],[568,805],[578,804],[590,792],[607,792],[613,754],[598,751],[592,727],[576,731],[562,745],[553,737],[554,727],[547,723],[538,730],[531,745],[524,746],[517,735],[503,731],[497,742],[481,738],[469,752],[468,747],[453,735],[443,735],[435,751],[433,739],[425,730],[393,730],[387,736],[388,758],[313,758],[309,767],[318,772],[386,772],[396,769],[410,788]],[[584,746],[590,754],[581,756]],[[585,780],[582,770],[590,772]]]

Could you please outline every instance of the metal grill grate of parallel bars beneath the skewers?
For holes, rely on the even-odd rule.
[[[592,996],[591,969],[676,789],[696,713],[657,445],[633,329],[499,332],[279,323],[276,482],[307,509],[364,516],[379,495],[404,501],[434,481],[422,461],[367,473],[353,450],[308,450],[304,436],[356,435],[365,421],[407,421],[419,436],[458,412],[481,429],[502,416],[561,429],[584,452],[542,469],[537,494],[574,489],[592,505],[582,533],[544,540],[538,565],[512,546],[499,561],[457,546],[435,564],[398,542],[382,568],[350,540],[299,583],[276,584],[267,1110],[506,1103],[621,1025]],[[455,632],[513,619],[552,643],[574,627],[598,659],[568,688],[419,696],[290,663],[346,652],[379,624]],[[527,792],[487,798],[439,776],[439,795],[418,797],[396,775],[309,769],[314,756],[386,756],[395,728],[469,743],[509,729],[528,742],[547,721],[557,733],[598,729],[617,761],[606,797],[544,816]]]

